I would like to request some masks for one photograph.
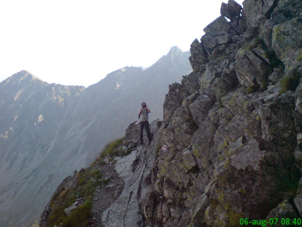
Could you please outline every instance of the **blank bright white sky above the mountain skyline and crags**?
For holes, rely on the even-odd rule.
[[[87,87],[125,66],[149,67],[172,46],[188,51],[220,16],[221,2],[1,1],[0,82],[27,70],[48,83]]]

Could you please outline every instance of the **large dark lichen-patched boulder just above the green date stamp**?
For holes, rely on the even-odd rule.
[[[265,219],[282,196],[275,196],[288,179],[271,141],[255,136],[246,147],[233,151],[217,173],[205,212],[208,226],[238,226],[240,218]]]

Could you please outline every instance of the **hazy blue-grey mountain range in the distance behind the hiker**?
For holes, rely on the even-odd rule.
[[[48,84],[27,71],[2,81],[0,226],[38,220],[66,174],[89,165],[104,144],[123,136],[142,100],[153,107],[150,120],[162,118],[168,84],[191,70],[188,57],[172,47],[146,70],[124,67],[87,88]]]

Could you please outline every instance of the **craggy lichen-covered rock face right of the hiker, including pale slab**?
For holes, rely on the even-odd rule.
[[[193,72],[169,85],[151,146],[115,163],[125,185],[94,226],[300,226],[302,2],[220,13],[191,44]]]

